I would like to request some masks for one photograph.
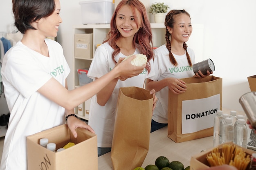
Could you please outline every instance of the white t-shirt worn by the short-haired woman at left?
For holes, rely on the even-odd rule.
[[[65,86],[70,73],[58,42],[45,39],[45,57],[18,42],[4,56],[1,74],[10,110],[0,170],[27,170],[26,137],[65,123],[65,108],[37,90],[54,77]]]

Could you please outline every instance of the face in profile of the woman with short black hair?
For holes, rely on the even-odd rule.
[[[37,20],[36,28],[40,34],[45,37],[56,37],[58,32],[58,26],[62,22],[59,15],[61,11],[61,4],[59,0],[55,0],[54,12],[46,18],[41,18]]]

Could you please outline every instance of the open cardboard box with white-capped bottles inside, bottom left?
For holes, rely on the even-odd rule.
[[[28,170],[98,170],[97,135],[77,128],[74,138],[67,124],[56,126],[27,137]],[[56,149],[68,142],[74,146],[61,152],[52,152],[39,145],[41,138],[55,143]]]

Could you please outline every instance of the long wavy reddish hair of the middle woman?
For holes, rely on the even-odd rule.
[[[151,60],[154,55],[152,47],[151,47],[151,46],[153,46],[152,32],[151,32],[150,22],[148,20],[146,8],[145,8],[144,4],[142,4],[139,0],[122,0],[121,2],[119,2],[119,4],[117,5],[117,7],[112,15],[112,19],[110,22],[110,31],[108,32],[107,37],[103,41],[103,43],[108,42],[108,44],[110,44],[110,46],[114,49],[114,52],[112,53],[112,59],[113,59],[113,61],[115,61],[114,57],[118,53],[120,53],[120,48],[119,48],[119,46],[117,46],[117,40],[120,37],[120,33],[117,29],[116,18],[117,18],[117,12],[124,5],[130,6],[135,18],[137,17],[136,13],[135,13],[136,9],[142,17],[141,18],[142,19],[142,23],[141,23],[142,28],[140,28],[139,31],[137,33],[135,33],[135,35],[133,37],[133,44],[139,49],[140,53],[147,56],[148,62],[147,62],[146,69],[148,72],[150,72],[149,60]],[[137,24],[137,26],[139,26],[136,19],[135,19],[135,23]],[[138,44],[138,45],[136,45],[136,44]]]

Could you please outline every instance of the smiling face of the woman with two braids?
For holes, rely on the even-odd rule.
[[[192,24],[189,15],[181,13],[174,16],[173,28],[167,27],[171,33],[171,41],[187,42],[192,33]]]

